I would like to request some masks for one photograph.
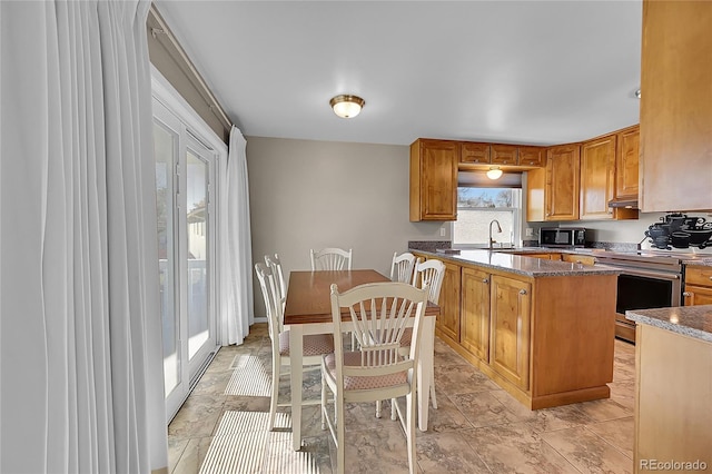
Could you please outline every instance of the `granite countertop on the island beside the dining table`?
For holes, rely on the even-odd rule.
[[[458,254],[444,254],[438,251],[427,251],[419,249],[411,249],[421,254],[426,254],[442,260],[452,260],[461,264],[474,264],[486,268],[494,268],[513,274],[525,275],[531,277],[548,277],[548,276],[585,276],[585,275],[617,275],[621,270],[604,265],[581,265],[570,264],[567,261],[546,260],[542,258],[532,258],[524,255],[513,255],[508,251],[498,249],[474,249],[461,250]],[[516,251],[525,251],[515,249]],[[511,250],[510,250],[511,251]],[[531,249],[535,253],[535,249]],[[542,253],[543,249],[538,249]],[[548,250],[546,250],[548,251]]]

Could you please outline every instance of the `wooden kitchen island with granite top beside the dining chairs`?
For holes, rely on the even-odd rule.
[[[619,270],[511,251],[441,254],[436,334],[531,409],[610,397]]]

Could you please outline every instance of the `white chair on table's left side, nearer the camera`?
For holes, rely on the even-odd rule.
[[[289,330],[284,330],[284,309],[277,296],[278,283],[273,270],[263,264],[255,264],[255,271],[259,280],[259,287],[265,299],[267,309],[267,323],[269,328],[269,339],[271,343],[271,394],[269,398],[269,425],[271,431],[275,427],[275,414],[278,406],[291,406],[289,403],[278,403],[279,378],[281,367],[289,367]],[[304,366],[318,367],[322,364],[324,354],[334,352],[334,337],[330,334],[317,334],[304,336],[303,359]],[[319,399],[303,401],[301,405],[317,405]],[[300,409],[301,407],[293,407]]]

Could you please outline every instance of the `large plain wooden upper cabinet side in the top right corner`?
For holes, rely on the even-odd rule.
[[[712,209],[712,1],[643,0],[645,213]]]

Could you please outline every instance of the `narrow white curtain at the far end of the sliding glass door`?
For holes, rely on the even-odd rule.
[[[220,344],[224,346],[243,344],[255,319],[246,147],[243,134],[234,126],[220,186]]]

